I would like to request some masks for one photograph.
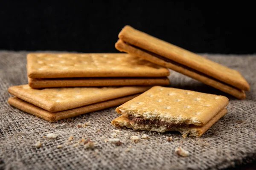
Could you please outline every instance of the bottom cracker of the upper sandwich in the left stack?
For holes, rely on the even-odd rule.
[[[167,77],[98,77],[98,78],[29,78],[31,88],[52,87],[99,87],[99,86],[128,86],[128,85],[168,85]]]

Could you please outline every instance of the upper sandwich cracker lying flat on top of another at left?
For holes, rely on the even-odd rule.
[[[29,86],[168,85],[169,71],[129,54],[28,54]]]

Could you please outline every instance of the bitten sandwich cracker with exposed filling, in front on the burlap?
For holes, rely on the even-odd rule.
[[[117,113],[124,115],[119,119],[126,123],[121,125],[113,120],[112,124],[157,132],[177,130],[183,134],[197,128],[192,134],[200,136],[226,113],[227,104],[225,96],[155,86],[116,108]]]

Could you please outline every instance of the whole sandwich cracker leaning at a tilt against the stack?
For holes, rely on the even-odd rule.
[[[125,51],[158,65],[171,68],[229,94],[235,94],[238,98],[244,98],[243,90],[250,89],[249,84],[238,71],[152,37],[130,26],[125,26],[118,37],[120,40],[116,42],[115,46],[119,51]],[[213,81],[207,83],[208,79]],[[215,82],[221,84],[215,85]],[[223,84],[230,87],[221,88]]]

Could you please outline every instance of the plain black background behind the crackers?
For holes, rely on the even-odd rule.
[[[199,53],[255,53],[250,3],[2,1],[0,49],[118,52],[125,25]]]

